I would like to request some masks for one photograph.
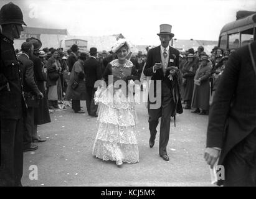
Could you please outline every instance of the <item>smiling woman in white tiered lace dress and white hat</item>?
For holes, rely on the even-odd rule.
[[[139,77],[133,63],[126,59],[130,44],[125,39],[119,39],[112,51],[118,58],[108,63],[103,73],[105,82],[95,93],[100,124],[93,155],[102,160],[116,161],[120,166],[123,162],[139,162],[134,90],[128,89],[133,88],[129,80],[138,80]]]

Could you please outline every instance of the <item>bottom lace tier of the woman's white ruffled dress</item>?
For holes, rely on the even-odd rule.
[[[140,161],[138,144],[120,144],[96,139],[92,154],[102,160],[122,160],[127,163]]]

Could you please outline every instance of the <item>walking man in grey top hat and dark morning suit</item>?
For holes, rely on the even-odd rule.
[[[179,83],[181,73],[179,67],[179,51],[169,46],[169,42],[174,37],[171,32],[171,25],[161,24],[159,39],[161,45],[148,51],[148,58],[145,65],[144,74],[152,76],[149,87],[148,114],[149,114],[149,147],[154,146],[156,138],[156,127],[158,120],[161,118],[159,155],[166,161],[169,156],[166,147],[169,141],[171,116],[176,113],[183,113],[181,105],[181,94]],[[158,81],[158,82],[157,82]],[[158,83],[161,83],[160,85]],[[156,96],[156,100],[152,100]],[[159,106],[158,99],[161,103]]]

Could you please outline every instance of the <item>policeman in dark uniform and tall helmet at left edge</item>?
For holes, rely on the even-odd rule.
[[[23,21],[21,9],[10,2],[0,10],[0,186],[22,186],[22,118],[26,113],[21,69],[13,40],[19,39]]]

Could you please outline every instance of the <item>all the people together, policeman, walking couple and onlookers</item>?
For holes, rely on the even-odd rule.
[[[147,104],[149,147],[154,147],[161,118],[159,156],[165,161],[169,161],[171,118],[175,126],[176,114],[183,113],[182,101],[184,109],[207,115],[210,96],[216,95],[204,158],[211,168],[219,158],[225,165],[226,179],[217,179],[219,185],[255,186],[256,95],[252,91],[256,89],[256,42],[235,52],[215,47],[211,56],[202,46],[197,52],[180,53],[169,46],[174,37],[172,26],[161,24],[157,34],[161,45],[148,48],[147,55],[133,55],[126,39],[117,40],[109,54],[99,54],[95,47],[89,54],[79,52],[75,44],[67,52],[62,48],[40,50],[42,42],[34,37],[21,50],[14,50],[13,40],[20,38],[22,25],[26,23],[18,6],[12,2],[2,6],[0,186],[22,186],[23,152],[36,150],[35,142],[45,142],[37,135],[38,125],[50,123],[50,113],[65,110],[69,100],[74,113],[85,113],[80,106],[80,100],[85,100],[88,115],[98,118],[92,149],[95,157],[115,161],[118,167],[123,162],[139,162],[135,85],[140,85],[139,91],[145,87],[136,80],[153,80]],[[95,88],[98,80],[101,83]],[[114,86],[120,82],[134,90],[124,92],[122,85]]]

